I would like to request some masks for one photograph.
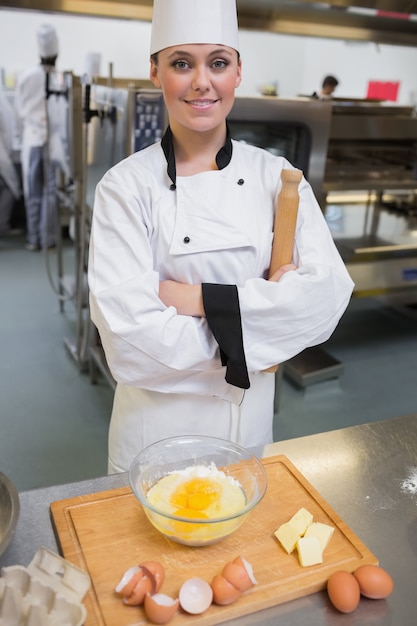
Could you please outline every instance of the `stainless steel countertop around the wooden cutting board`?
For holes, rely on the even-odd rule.
[[[393,577],[387,600],[362,599],[354,613],[333,609],[315,593],[228,622],[231,626],[411,626],[417,592],[417,414],[354,426],[268,446],[264,456],[285,454]],[[57,551],[50,524],[54,500],[127,484],[126,474],[20,494],[16,535],[0,566],[27,565],[40,546]]]

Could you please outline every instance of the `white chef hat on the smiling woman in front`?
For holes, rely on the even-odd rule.
[[[154,0],[151,54],[188,43],[239,50],[236,0]]]

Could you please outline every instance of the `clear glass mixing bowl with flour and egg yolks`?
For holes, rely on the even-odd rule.
[[[142,450],[131,464],[129,484],[160,533],[184,545],[206,546],[243,524],[268,480],[246,448],[215,437],[180,436]]]

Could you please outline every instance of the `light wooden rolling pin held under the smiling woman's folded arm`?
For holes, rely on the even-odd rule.
[[[282,170],[281,191],[277,199],[274,221],[274,240],[272,242],[271,263],[269,276],[271,277],[280,267],[292,262],[294,249],[295,227],[297,224],[298,185],[303,177],[301,170]],[[274,374],[278,365],[269,367],[264,372]]]

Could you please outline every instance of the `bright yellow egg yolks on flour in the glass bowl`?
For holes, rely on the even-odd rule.
[[[175,515],[191,519],[207,519],[204,510],[219,500],[220,495],[220,485],[208,478],[193,478],[178,485],[170,502],[177,507]]]

